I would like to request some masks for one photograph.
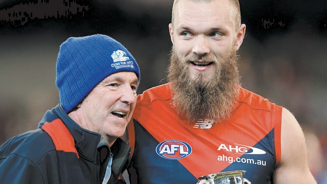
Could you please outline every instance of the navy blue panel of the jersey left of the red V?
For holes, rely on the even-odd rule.
[[[138,168],[136,173],[139,184],[196,183],[198,181],[178,160],[165,159],[156,154],[155,148],[159,142],[138,123],[134,126],[138,141],[135,141],[137,144],[133,165]],[[144,167],[144,165],[148,166]]]

